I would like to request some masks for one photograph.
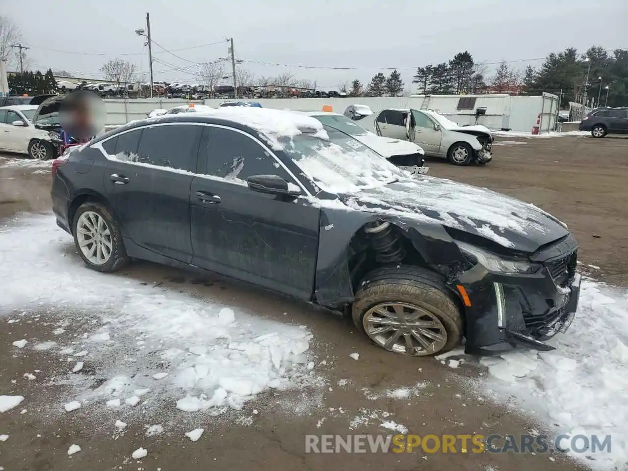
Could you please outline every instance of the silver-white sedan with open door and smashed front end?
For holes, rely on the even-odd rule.
[[[492,160],[495,140],[485,126],[458,126],[434,111],[383,109],[374,121],[378,136],[405,139],[423,148],[425,155],[446,157],[453,165],[486,164]]]

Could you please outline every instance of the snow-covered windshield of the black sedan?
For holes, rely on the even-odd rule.
[[[329,140],[310,132],[295,136],[285,146],[296,165],[323,190],[355,192],[404,178],[404,173],[381,155],[347,134],[324,127]]]

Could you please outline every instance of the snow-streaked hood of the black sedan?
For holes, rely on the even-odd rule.
[[[489,246],[495,243],[518,252],[535,252],[569,234],[560,220],[533,204],[433,176],[416,176],[340,198],[355,209],[440,224],[488,239]]]

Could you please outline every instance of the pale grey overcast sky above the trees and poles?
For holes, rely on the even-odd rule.
[[[31,46],[33,68],[93,78],[102,78],[100,67],[113,58],[148,72],[148,48],[134,33],[144,27],[147,11],[154,41],[168,50],[190,48],[175,51],[183,59],[153,48],[156,60],[169,64],[154,63],[154,80],[167,82],[200,82],[194,62],[227,57],[227,43],[192,47],[227,37],[245,60],[239,67],[258,76],[291,72],[317,80],[319,89],[354,78],[365,84],[379,71],[391,72],[384,68],[398,68],[409,87],[417,66],[463,50],[475,62],[492,63],[542,58],[570,46],[580,52],[591,45],[628,48],[627,0],[0,0],[0,14],[18,24]]]

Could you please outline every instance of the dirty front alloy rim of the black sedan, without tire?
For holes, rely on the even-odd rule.
[[[409,303],[379,303],[366,311],[362,326],[373,342],[395,353],[433,355],[447,344],[438,317]]]

